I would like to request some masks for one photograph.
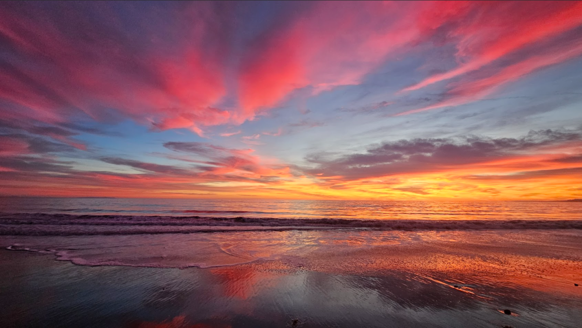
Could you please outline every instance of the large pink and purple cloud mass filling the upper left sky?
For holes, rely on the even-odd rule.
[[[196,133],[229,122],[230,112],[213,107],[225,95],[225,86],[223,56],[217,54],[222,45],[205,41],[215,33],[210,24],[220,15],[210,3],[176,13],[172,27],[179,34],[168,37],[188,41],[173,53],[164,53],[159,35],[151,31],[144,30],[151,33],[151,46],[128,41],[111,8],[90,6],[95,15],[104,16],[102,23],[74,9],[68,11],[68,25],[39,19],[45,13],[36,6],[27,8],[26,15],[0,10],[0,34],[23,58],[0,71],[7,82],[0,98],[19,107],[17,116],[47,124],[83,116],[109,121],[111,111],[105,108],[114,108],[157,129],[188,128]],[[66,28],[72,25],[87,37]],[[26,61],[35,65],[24,65]]]

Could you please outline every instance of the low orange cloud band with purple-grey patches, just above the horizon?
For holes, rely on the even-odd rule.
[[[27,144],[45,151],[56,147]],[[6,145],[14,145],[5,148],[11,154],[26,151],[20,141]],[[196,166],[108,157],[102,160],[140,172],[79,171],[70,162],[25,153],[0,159],[0,185],[11,195],[44,196],[484,200],[582,193],[580,131],[399,140],[339,157],[312,154],[308,167],[269,163],[249,149],[207,143],[173,142],[166,148],[182,153],[174,160]]]

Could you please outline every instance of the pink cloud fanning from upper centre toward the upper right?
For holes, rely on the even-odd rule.
[[[320,93],[360,83],[389,52],[417,35],[398,20],[408,7],[318,2],[262,37],[239,75],[239,121],[278,105],[297,89]]]

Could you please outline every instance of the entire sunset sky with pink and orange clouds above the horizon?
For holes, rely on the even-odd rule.
[[[3,2],[0,195],[582,198],[582,2]]]

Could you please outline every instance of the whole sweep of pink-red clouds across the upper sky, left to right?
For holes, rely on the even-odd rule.
[[[56,125],[130,118],[204,135],[208,126],[252,120],[298,89],[317,94],[359,84],[389,58],[427,41],[456,45],[463,64],[407,90],[482,68],[582,24],[580,2],[317,2],[239,49],[228,4],[168,9],[169,21],[140,11],[139,36],[127,33],[107,3],[87,6],[97,18],[77,7],[68,8],[66,20],[26,3],[0,8],[0,34],[13,57],[0,69],[0,99],[10,106],[0,119]],[[236,105],[223,106],[225,98]],[[69,136],[49,136],[84,148]]]

